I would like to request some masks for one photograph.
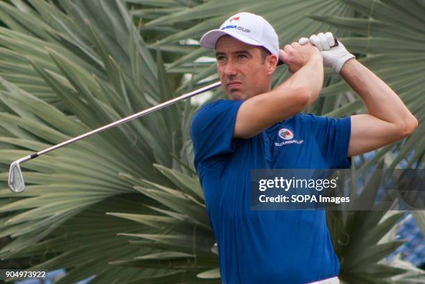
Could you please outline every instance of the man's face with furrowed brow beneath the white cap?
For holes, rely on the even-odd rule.
[[[260,47],[223,35],[215,45],[217,72],[229,99],[245,100],[269,91],[276,58],[264,62]]]

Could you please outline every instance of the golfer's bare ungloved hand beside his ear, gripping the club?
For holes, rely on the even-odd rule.
[[[288,65],[289,72],[292,74],[312,60],[323,60],[319,50],[313,45],[309,43],[301,45],[298,42],[286,44],[283,50],[279,51],[279,58]]]

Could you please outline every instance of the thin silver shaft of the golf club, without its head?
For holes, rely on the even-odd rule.
[[[194,90],[193,92],[190,92],[188,94],[182,94],[180,97],[176,97],[174,99],[170,99],[169,101],[165,101],[163,103],[160,103],[157,106],[153,106],[151,108],[148,108],[147,110],[142,110],[142,111],[140,111],[138,113],[135,113],[134,115],[130,115],[128,117],[124,117],[123,119],[119,119],[116,122],[113,122],[111,124],[107,124],[105,126],[101,126],[101,127],[97,128],[97,129],[94,129],[94,130],[88,132],[88,133],[82,134],[80,136],[77,136],[77,137],[74,137],[74,138],[69,139],[67,141],[64,141],[64,142],[62,142],[60,144],[57,144],[57,145],[54,145],[54,146],[49,147],[47,149],[44,149],[44,150],[42,150],[42,151],[40,151],[38,153],[33,153],[30,156],[27,156],[27,157],[22,158],[21,159],[21,162],[26,162],[27,160],[31,160],[33,158],[37,158],[38,156],[41,156],[41,155],[43,155],[45,153],[49,153],[50,151],[56,150],[58,148],[64,147],[67,144],[71,144],[71,143],[74,143],[74,142],[76,142],[78,140],[84,139],[85,137],[88,137],[88,136],[90,136],[92,134],[96,134],[96,133],[105,131],[106,129],[113,128],[115,126],[118,126],[119,124],[123,124],[124,122],[129,122],[129,121],[131,121],[133,119],[136,119],[138,117],[142,117],[143,115],[147,115],[150,112],[154,112],[156,110],[160,110],[161,108],[165,108],[167,106],[171,106],[172,104],[174,104],[174,103],[176,103],[178,101],[182,101],[184,99],[188,99],[190,97],[194,97],[197,94],[201,94],[203,92],[207,92],[209,90],[213,90],[216,87],[219,87],[219,85],[221,85],[220,82],[215,82],[213,84],[207,85],[206,87],[201,87],[198,90]]]

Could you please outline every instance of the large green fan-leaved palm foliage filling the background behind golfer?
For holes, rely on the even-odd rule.
[[[22,194],[12,194],[6,178],[12,160],[217,80],[215,65],[197,60],[210,51],[188,39],[235,12],[266,17],[281,44],[317,31],[336,33],[424,121],[425,7],[419,0],[403,6],[366,0],[11,2],[0,2],[8,26],[0,27],[0,237],[13,240],[0,258],[37,257],[33,268],[65,267],[60,284],[92,275],[90,283],[220,283],[192,165],[188,129],[197,107],[189,101],[27,162]],[[281,67],[274,84],[288,75]],[[218,90],[212,99],[219,96]],[[321,98],[307,111],[349,115],[363,104],[328,74]],[[408,167],[422,168],[424,137],[421,126],[363,167],[397,167],[407,159]],[[329,212],[345,283],[418,283],[424,276],[388,278],[406,272],[382,263],[401,244],[380,242],[400,217]]]

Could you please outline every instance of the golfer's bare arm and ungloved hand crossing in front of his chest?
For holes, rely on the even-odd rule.
[[[311,44],[297,43],[281,51],[293,75],[271,92],[244,101],[236,116],[233,137],[247,139],[288,117],[301,112],[317,99],[323,85],[323,62]]]

